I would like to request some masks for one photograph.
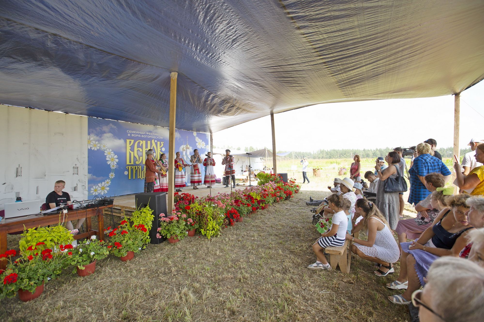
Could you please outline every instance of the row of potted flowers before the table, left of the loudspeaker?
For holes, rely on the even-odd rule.
[[[140,213],[140,209],[137,211]],[[108,254],[120,257],[121,261],[131,260],[134,253],[149,242],[153,215],[146,215],[152,210],[148,207],[141,211],[144,212],[141,219],[147,220],[146,225],[134,224],[133,221],[140,220],[136,216],[130,221],[124,219],[117,228],[105,229],[109,236],[107,241],[92,235],[73,246],[72,234],[62,225],[55,226],[55,229],[39,227],[25,231],[19,242],[19,257],[15,258],[15,249],[0,254],[0,261],[8,261],[6,269],[0,271],[0,281],[3,282],[0,299],[18,293],[20,300],[30,301],[42,294],[45,282],[61,275],[67,267],[72,266],[73,273],[79,276],[88,276],[94,273],[97,261]]]

